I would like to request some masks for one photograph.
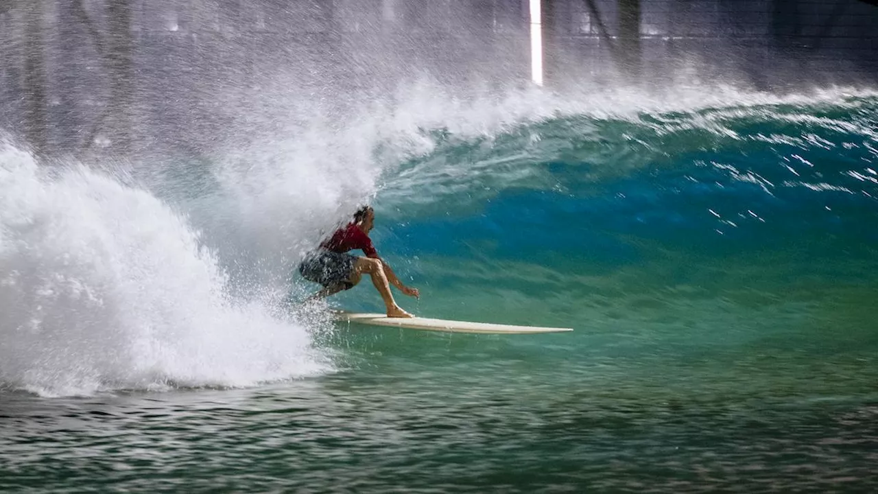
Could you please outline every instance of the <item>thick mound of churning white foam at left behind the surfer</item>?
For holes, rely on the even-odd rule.
[[[225,288],[198,235],[150,193],[0,145],[0,385],[65,395],[328,368],[303,327]]]

